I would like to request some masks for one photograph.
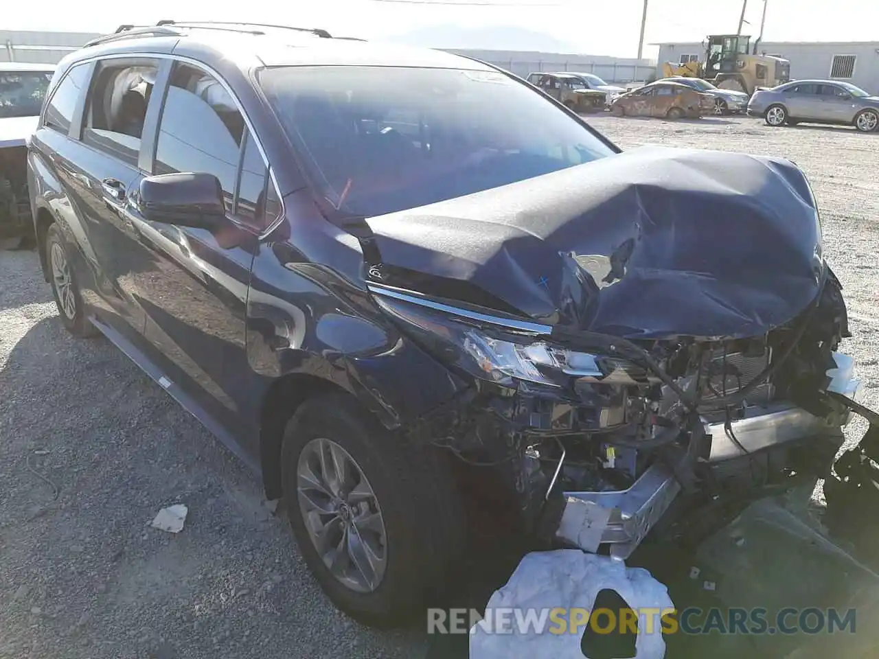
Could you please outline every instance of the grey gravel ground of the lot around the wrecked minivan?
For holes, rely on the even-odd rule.
[[[784,156],[809,175],[879,406],[879,134],[590,117],[623,148]],[[860,431],[861,426],[854,428]],[[257,480],[105,340],[61,328],[33,252],[0,252],[0,657],[422,657],[335,612]],[[178,535],[149,528],[185,503]]]

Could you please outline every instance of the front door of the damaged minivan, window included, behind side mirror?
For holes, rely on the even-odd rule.
[[[213,230],[131,214],[149,262],[134,286],[146,337],[168,376],[164,386],[179,387],[236,437],[255,438],[241,426],[250,385],[244,322],[258,235],[278,202],[236,100],[206,71],[174,63],[152,171],[213,174],[227,206],[226,221]]]

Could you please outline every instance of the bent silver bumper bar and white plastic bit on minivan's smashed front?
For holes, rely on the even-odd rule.
[[[861,380],[854,377],[854,359],[839,352],[834,352],[832,357],[835,367],[827,372],[830,379],[827,391],[858,402]],[[702,419],[705,436],[710,441],[708,467],[822,436],[845,426],[850,419],[850,409],[822,418],[789,403],[748,408],[744,418],[729,426]],[[556,539],[589,552],[598,552],[602,545],[608,545],[612,556],[628,558],[681,489],[671,467],[654,464],[625,490],[564,492]]]

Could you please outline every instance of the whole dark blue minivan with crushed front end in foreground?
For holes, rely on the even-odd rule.
[[[801,170],[621,152],[465,57],[124,26],[61,63],[28,160],[61,322],[254,467],[368,624],[445,583],[465,483],[624,560],[825,476],[871,414]]]

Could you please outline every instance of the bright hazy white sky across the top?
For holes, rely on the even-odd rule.
[[[455,2],[469,4],[451,4]],[[876,0],[768,3],[765,40],[879,39]],[[432,25],[514,25],[570,43],[575,52],[622,57],[636,54],[643,8],[642,0],[122,0],[91,7],[70,0],[40,0],[37,4],[7,0],[4,5],[0,28],[11,30],[112,32],[120,22],[214,18],[320,26],[340,35],[382,39]],[[130,9],[123,10],[126,5]],[[31,11],[33,6],[39,11]],[[650,0],[645,43],[701,41],[710,33],[735,33],[741,9],[741,0]],[[744,33],[756,37],[762,11],[763,0],[749,0],[746,19],[751,25],[745,25]],[[527,43],[519,46],[521,50],[528,48]],[[655,49],[645,50],[645,56],[652,55]]]

